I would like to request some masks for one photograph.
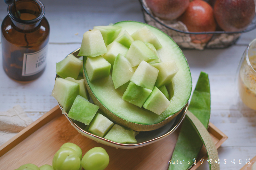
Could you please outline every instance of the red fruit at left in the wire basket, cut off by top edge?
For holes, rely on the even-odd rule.
[[[161,19],[178,18],[188,7],[189,0],[145,0],[153,14]]]

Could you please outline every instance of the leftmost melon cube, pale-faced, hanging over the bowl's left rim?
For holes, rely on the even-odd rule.
[[[52,96],[63,107],[63,112],[68,112],[72,106],[76,96],[79,93],[79,84],[62,79],[56,78],[55,84],[52,90]]]

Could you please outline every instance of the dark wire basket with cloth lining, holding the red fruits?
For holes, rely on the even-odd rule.
[[[144,20],[147,24],[162,30],[169,35],[181,49],[216,49],[227,48],[236,43],[239,36],[242,33],[249,32],[256,28],[256,17],[252,20],[252,23],[243,31],[227,32],[227,31],[213,31],[213,32],[189,32],[188,28],[181,21],[177,20],[162,20],[154,16],[144,0],[139,0],[141,9],[144,15]],[[212,36],[211,39],[206,42],[200,43],[192,42],[192,38],[198,38],[198,35]],[[197,42],[198,42],[197,41]]]

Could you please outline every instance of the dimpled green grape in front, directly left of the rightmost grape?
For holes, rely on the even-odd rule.
[[[63,147],[57,151],[52,160],[54,170],[79,170],[81,160],[74,149]]]

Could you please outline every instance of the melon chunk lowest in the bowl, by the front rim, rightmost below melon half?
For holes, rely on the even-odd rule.
[[[117,143],[137,143],[134,134],[132,129],[115,124],[104,138]]]

